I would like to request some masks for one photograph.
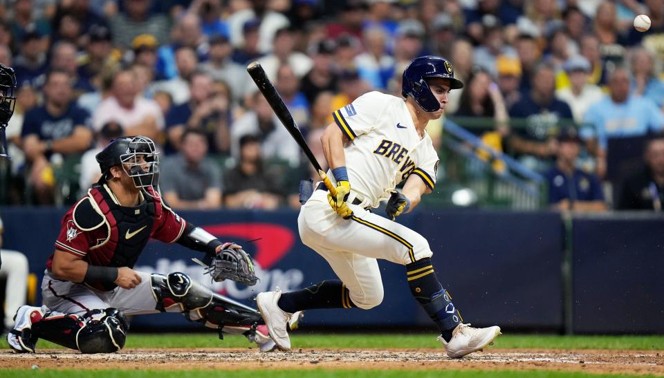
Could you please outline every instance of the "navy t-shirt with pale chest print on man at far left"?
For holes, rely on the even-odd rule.
[[[90,113],[75,102],[57,116],[50,115],[45,106],[37,106],[26,113],[21,136],[36,134],[39,140],[58,140],[72,135],[75,126],[91,127]]]

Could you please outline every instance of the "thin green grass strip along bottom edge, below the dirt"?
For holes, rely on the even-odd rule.
[[[26,378],[26,370],[21,369],[0,369],[2,377],[6,378]],[[597,377],[652,377],[652,375],[594,375],[581,372],[555,372],[546,370],[269,370],[259,372],[257,370],[246,371],[214,371],[214,370],[53,370],[38,369],[29,370],[27,375],[30,378],[256,378],[266,376],[270,378],[471,378],[471,377],[492,377],[492,378],[597,378]]]

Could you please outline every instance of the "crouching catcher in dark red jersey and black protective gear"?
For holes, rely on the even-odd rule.
[[[158,192],[154,143],[142,136],[113,140],[96,156],[102,178],[62,218],[55,252],[42,281],[44,305],[22,306],[7,341],[35,352],[46,339],[83,353],[117,352],[129,325],[125,315],[180,312],[189,321],[245,334],[261,350],[274,342],[260,314],[175,272],[137,272],[133,265],[149,238],[204,252],[215,281],[255,285],[250,256],[221,243],[169,209]]]

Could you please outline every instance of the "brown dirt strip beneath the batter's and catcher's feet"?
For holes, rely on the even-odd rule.
[[[0,368],[76,369],[473,369],[564,370],[593,373],[663,375],[664,351],[501,350],[490,349],[463,359],[440,350],[294,350],[259,353],[255,349],[128,349],[117,354],[80,355],[41,350],[35,355],[0,351]]]

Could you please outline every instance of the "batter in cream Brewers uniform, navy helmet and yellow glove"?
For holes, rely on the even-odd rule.
[[[443,115],[452,89],[463,88],[452,64],[442,57],[418,57],[403,73],[404,98],[370,92],[333,113],[321,138],[336,194],[318,185],[299,212],[302,243],[331,265],[339,280],[304,290],[264,292],[257,306],[270,336],[291,348],[288,321],[293,313],[317,308],[362,308],[382,302],[376,259],[406,266],[410,290],[440,330],[449,357],[481,350],[500,328],[462,323],[452,297],[432,265],[427,240],[394,220],[412,211],[436,183],[438,155],[425,127]],[[405,180],[403,190],[394,190]],[[387,200],[390,219],[371,213]]]

